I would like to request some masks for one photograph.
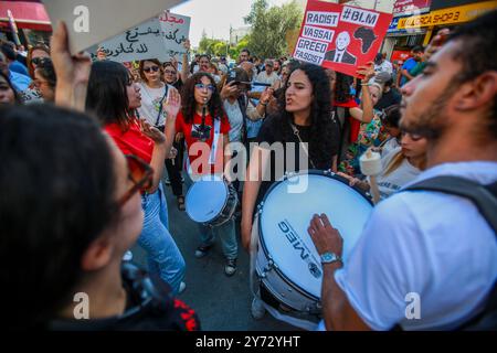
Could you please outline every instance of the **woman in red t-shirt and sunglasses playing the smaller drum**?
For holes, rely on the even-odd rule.
[[[230,142],[230,122],[210,74],[199,72],[187,81],[182,89],[182,108],[176,121],[176,130],[184,135],[191,175],[197,178],[224,172],[229,158],[224,156],[223,148]],[[214,141],[218,143],[214,145]],[[234,221],[230,220],[214,228],[199,225],[199,231],[201,244],[197,248],[195,257],[208,255],[218,236],[226,258],[224,272],[226,276],[233,276],[239,253]]]

